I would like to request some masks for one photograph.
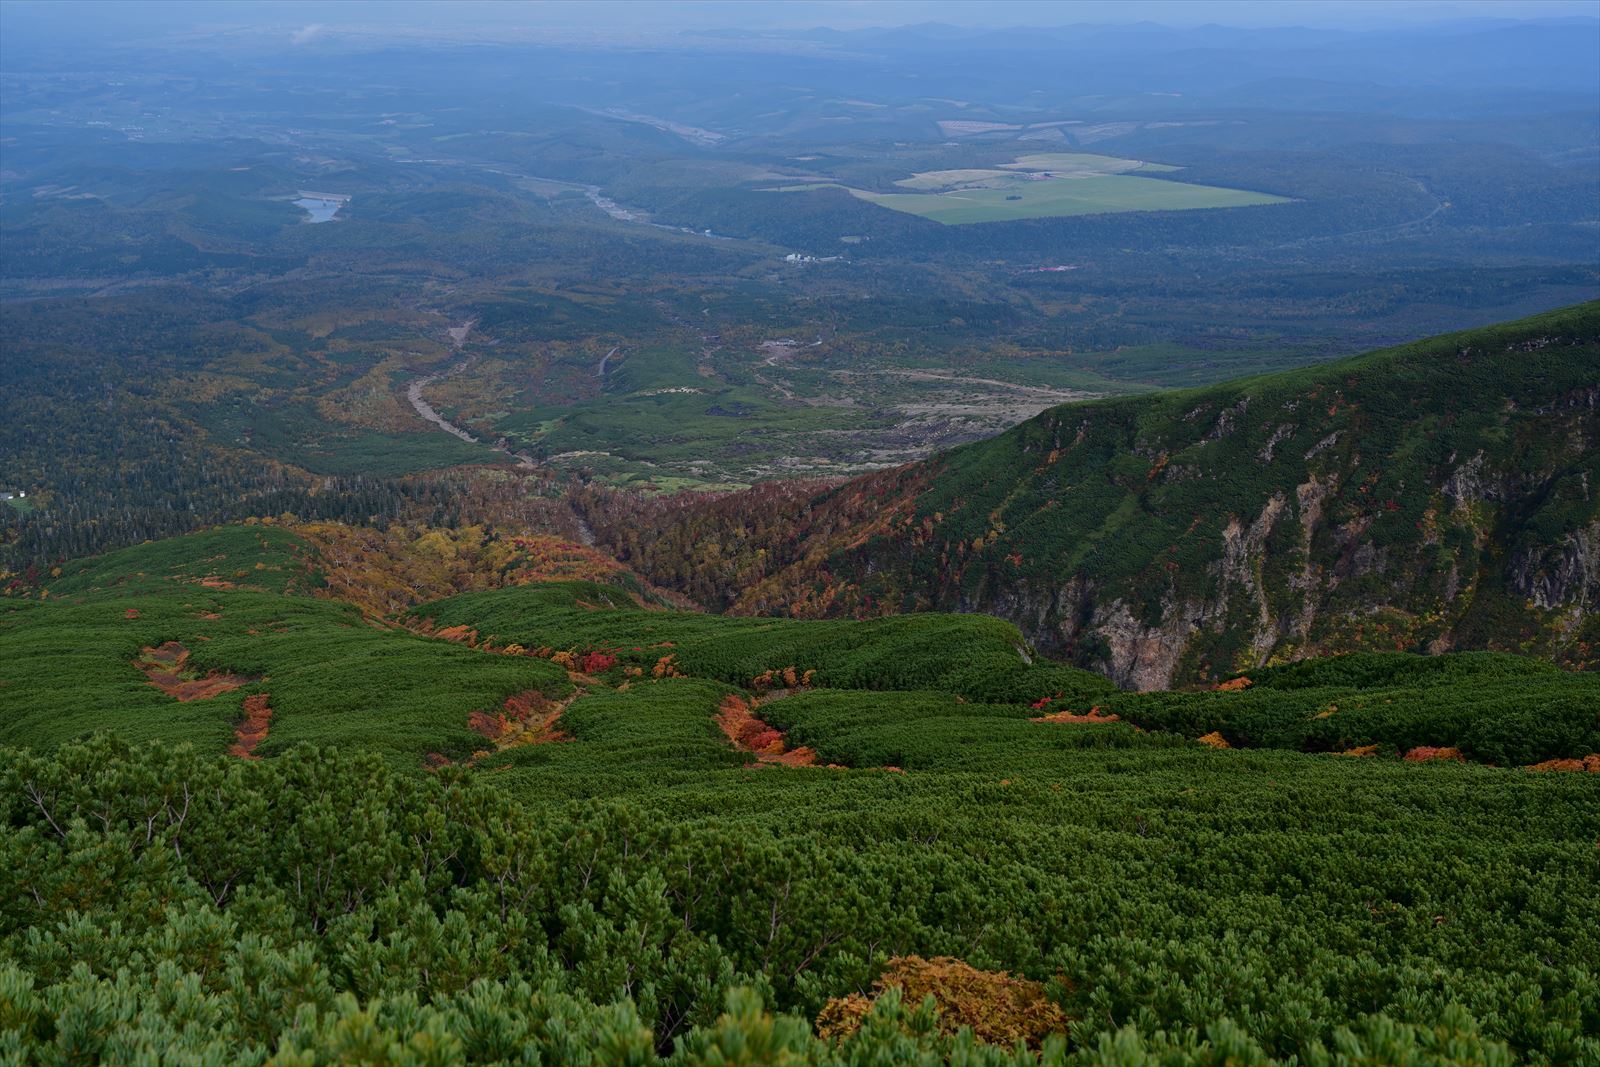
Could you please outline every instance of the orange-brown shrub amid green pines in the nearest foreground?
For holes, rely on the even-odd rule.
[[[816,1017],[818,1037],[838,1040],[861,1029],[872,1003],[890,989],[899,989],[907,1006],[926,997],[939,1008],[939,1030],[954,1035],[971,1027],[973,1037],[990,1045],[1026,1043],[1038,1048],[1053,1033],[1067,1029],[1067,1016],[1045,997],[1043,982],[1011,977],[1005,971],[979,971],[950,957],[898,957],[874,982],[874,995],[835,997]]]

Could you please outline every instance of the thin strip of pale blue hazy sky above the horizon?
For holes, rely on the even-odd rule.
[[[1470,18],[1597,18],[1600,0],[0,0],[11,30],[150,37],[219,26],[427,27],[470,34],[779,30],[949,22],[1059,26],[1320,26],[1363,29]]]

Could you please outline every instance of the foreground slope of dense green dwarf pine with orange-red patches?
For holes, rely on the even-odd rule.
[[[374,616],[331,598],[341,544],[219,528],[5,601],[6,1040],[1600,1051],[1594,675],[1368,654],[1131,694],[984,616],[734,619],[597,582]],[[126,872],[69,878],[69,848]],[[120,1008],[74,1029],[59,997]]]

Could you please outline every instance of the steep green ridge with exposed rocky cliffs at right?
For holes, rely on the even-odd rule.
[[[1354,649],[1600,657],[1600,304],[1046,411],[846,483],[736,611],[984,611],[1130,688]]]

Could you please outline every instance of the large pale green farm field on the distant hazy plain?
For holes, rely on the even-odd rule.
[[[914,192],[846,189],[850,195],[882,208],[906,211],[946,226],[1003,222],[1120,211],[1192,211],[1197,208],[1245,208],[1286,203],[1243,189],[1221,189],[1146,174],[1181,168],[1083,152],[1024,155],[1000,168],[923,171],[896,181]],[[811,182],[781,186],[774,192],[826,189]]]

